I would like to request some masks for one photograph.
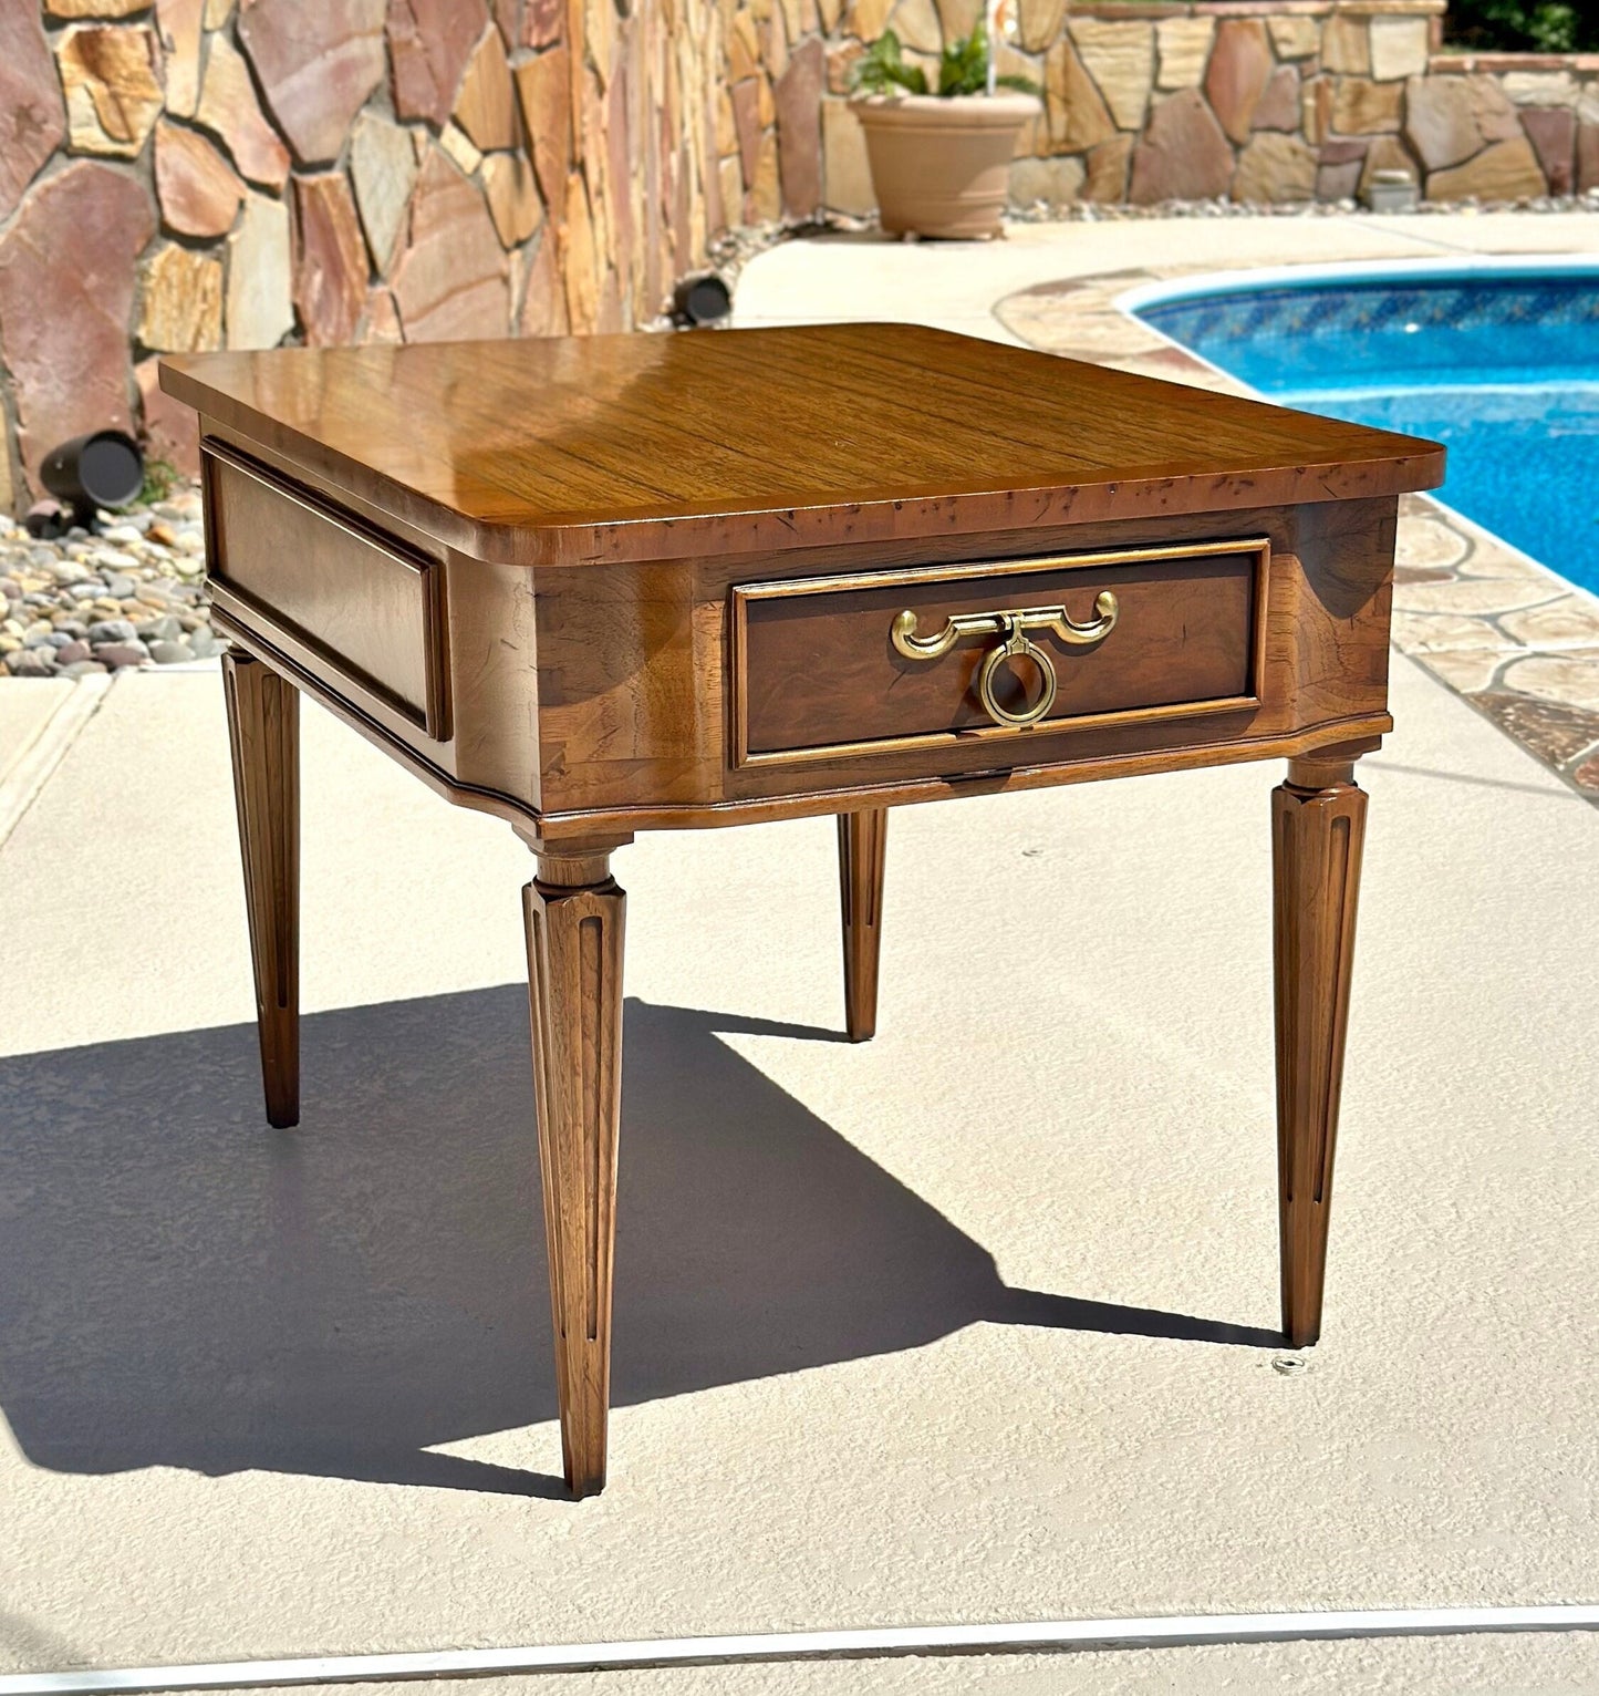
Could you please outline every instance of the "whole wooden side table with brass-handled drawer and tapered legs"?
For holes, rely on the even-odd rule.
[[[202,417],[266,1111],[298,1118],[297,690],[507,819],[566,1479],[605,1479],[612,851],[838,814],[872,1035],[889,807],[1287,758],[1282,1313],[1321,1325],[1397,497],[1443,449],[865,324],[168,358]]]

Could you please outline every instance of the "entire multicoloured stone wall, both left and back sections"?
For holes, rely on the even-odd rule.
[[[0,0],[0,510],[61,439],[193,461],[156,356],[626,329],[734,224],[872,210],[850,66],[982,0]],[[1012,197],[1599,187],[1599,58],[1443,0],[1012,0]]]

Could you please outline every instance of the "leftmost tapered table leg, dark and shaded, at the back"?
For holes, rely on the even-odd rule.
[[[300,1123],[300,697],[271,667],[222,658],[266,1118]]]

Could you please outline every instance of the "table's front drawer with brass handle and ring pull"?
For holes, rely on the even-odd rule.
[[[1260,706],[1270,544],[744,583],[736,765]]]

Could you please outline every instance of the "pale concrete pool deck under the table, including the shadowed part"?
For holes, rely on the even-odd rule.
[[[794,244],[739,300],[1004,336],[994,302],[1078,261],[1280,259],[1336,222]],[[1360,239],[1407,241],[1390,222]],[[1362,762],[1328,1323],[1294,1374],[1270,1336],[1280,765],[897,812],[860,1048],[834,1040],[826,821],[617,855],[617,1413],[578,1506],[551,1482],[526,851],[307,707],[305,1123],[271,1133],[220,685],[120,677],[51,745],[56,689],[0,683],[19,768],[49,767],[0,845],[0,1671],[1596,1599],[1599,814],[1411,660]],[[1060,962],[1026,1021],[982,1011],[1017,911]],[[1599,1640],[1568,1635],[449,1689],[1596,1681]]]

